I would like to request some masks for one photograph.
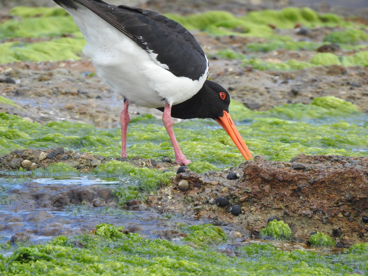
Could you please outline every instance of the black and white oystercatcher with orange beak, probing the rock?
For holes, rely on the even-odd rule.
[[[121,156],[127,156],[128,106],[163,111],[162,121],[174,147],[175,163],[187,165],[176,141],[171,117],[212,118],[252,158],[229,115],[229,93],[207,80],[208,60],[197,40],[178,22],[155,13],[101,0],[54,0],[74,19],[88,56],[112,88],[124,98],[120,114]]]

